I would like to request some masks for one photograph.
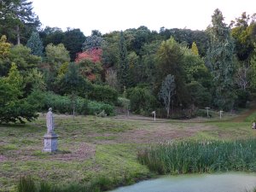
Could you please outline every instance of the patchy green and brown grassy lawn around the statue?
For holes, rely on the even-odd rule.
[[[134,183],[152,175],[137,160],[148,143],[170,140],[230,140],[256,137],[251,122],[202,122],[55,115],[59,151],[42,152],[45,117],[26,125],[0,125],[0,191],[15,189],[20,176],[49,183],[84,183],[109,176]]]

